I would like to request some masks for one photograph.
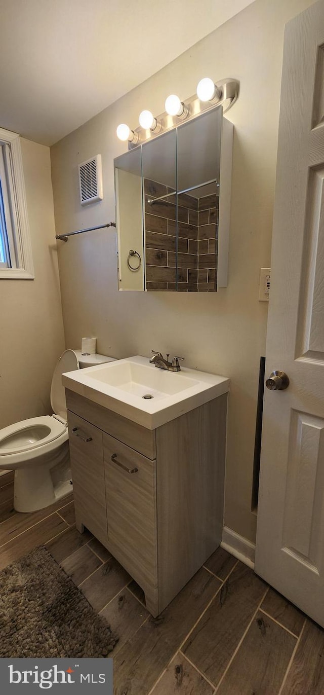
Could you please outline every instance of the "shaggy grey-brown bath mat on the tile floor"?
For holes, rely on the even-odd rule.
[[[105,657],[117,638],[45,548],[0,572],[0,657]]]

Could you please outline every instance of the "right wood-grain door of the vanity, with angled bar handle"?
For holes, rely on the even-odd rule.
[[[109,547],[144,591],[157,586],[155,461],[103,434]]]

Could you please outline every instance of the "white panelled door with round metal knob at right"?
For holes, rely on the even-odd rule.
[[[255,571],[324,626],[324,0],[285,31],[266,356]]]

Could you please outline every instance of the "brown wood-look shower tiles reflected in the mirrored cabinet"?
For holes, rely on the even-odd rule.
[[[144,179],[146,288],[149,291],[176,290],[178,279],[178,291],[215,291],[218,197],[216,194],[201,198],[187,193],[178,195],[177,274],[176,202],[169,197],[148,204],[148,199],[173,190],[157,181]]]

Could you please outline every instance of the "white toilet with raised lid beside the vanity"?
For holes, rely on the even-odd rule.
[[[114,358],[65,350],[52,378],[53,415],[22,420],[0,430],[0,473],[15,471],[14,507],[17,512],[36,512],[72,491],[62,373],[110,361]]]

